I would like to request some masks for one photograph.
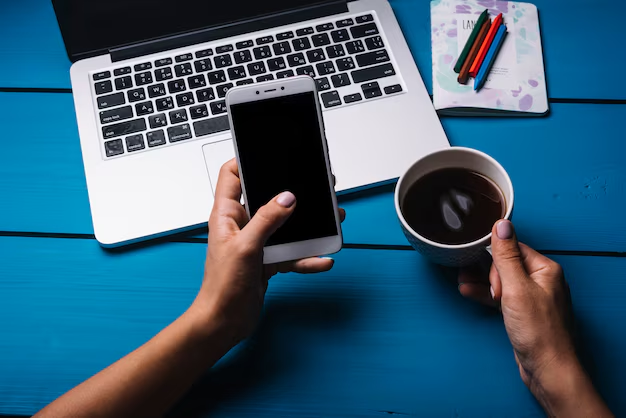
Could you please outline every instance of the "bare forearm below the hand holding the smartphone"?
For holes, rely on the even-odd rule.
[[[37,417],[160,416],[231,348],[193,307],[149,342],[72,389]]]

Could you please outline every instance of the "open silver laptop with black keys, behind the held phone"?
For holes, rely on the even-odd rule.
[[[339,193],[449,146],[387,0],[52,2],[102,246],[207,224],[236,85],[315,79]]]

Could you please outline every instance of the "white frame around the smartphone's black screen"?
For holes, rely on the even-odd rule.
[[[290,77],[280,80],[272,80],[258,84],[244,85],[234,87],[226,94],[226,107],[228,109],[228,120],[231,126],[233,138],[233,146],[235,148],[235,156],[237,157],[237,165],[239,167],[239,176],[241,181],[241,189],[243,192],[243,200],[250,217],[250,208],[248,205],[248,197],[246,193],[245,173],[241,168],[239,159],[239,147],[237,145],[237,131],[233,124],[230,107],[240,103],[249,103],[273,99],[282,96],[291,96],[299,93],[312,92],[315,98],[317,109],[317,120],[319,122],[320,136],[322,138],[322,146],[324,147],[324,159],[326,161],[326,172],[328,177],[328,187],[331,192],[333,201],[333,210],[335,212],[335,223],[337,226],[337,235],[316,238],[306,241],[297,241],[286,244],[278,244],[266,246],[263,248],[263,263],[272,264],[283,261],[298,260],[301,258],[315,257],[324,254],[333,254],[341,250],[343,245],[343,235],[341,232],[341,220],[339,218],[339,207],[337,205],[337,195],[335,194],[335,186],[333,174],[330,166],[330,157],[328,155],[328,142],[324,130],[324,120],[322,118],[322,110],[317,95],[315,81],[308,76]],[[296,196],[296,199],[298,196]],[[296,203],[297,205],[297,203]]]

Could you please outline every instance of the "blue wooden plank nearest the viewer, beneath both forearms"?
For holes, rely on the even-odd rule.
[[[0,413],[32,414],[182,313],[205,246],[110,253],[91,240],[5,237],[0,252]],[[258,332],[180,415],[542,416],[501,318],[464,301],[448,271],[412,251],[344,250],[336,260],[323,275],[272,279]],[[626,259],[557,260],[586,364],[622,416]]]

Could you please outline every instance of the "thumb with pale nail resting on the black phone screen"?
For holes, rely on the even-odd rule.
[[[296,205],[296,196],[291,192],[282,192],[265,206],[261,207],[250,219],[243,233],[252,242],[261,246],[291,216]]]

